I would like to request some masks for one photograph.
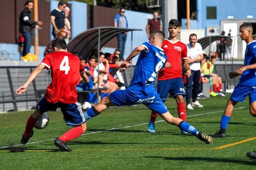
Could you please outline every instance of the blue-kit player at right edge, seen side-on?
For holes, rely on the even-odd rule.
[[[233,114],[234,106],[249,96],[250,113],[256,116],[256,41],[253,40],[252,24],[244,23],[239,29],[240,37],[247,44],[244,55],[244,67],[230,72],[229,77],[235,78],[239,75],[239,84],[234,88],[230,99],[227,101],[226,109],[220,121],[220,130],[213,137],[226,137],[226,129]]]

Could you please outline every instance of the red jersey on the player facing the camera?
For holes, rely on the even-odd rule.
[[[180,40],[171,42],[165,39],[162,48],[167,56],[167,62],[171,63],[171,68],[161,69],[158,73],[158,80],[182,78],[181,59],[187,59],[187,45],[181,43]]]

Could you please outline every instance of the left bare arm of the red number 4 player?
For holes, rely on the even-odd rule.
[[[29,86],[29,84],[36,78],[37,75],[39,75],[39,73],[42,71],[42,69],[45,68],[45,65],[40,64],[39,66],[37,66],[32,73],[30,74],[29,78],[27,79],[26,83],[23,86],[20,86],[15,93],[17,95],[20,95],[22,93],[24,93],[27,90],[27,87]]]

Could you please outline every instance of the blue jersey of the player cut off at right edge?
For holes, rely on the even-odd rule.
[[[256,63],[256,41],[247,44],[244,55],[244,66]],[[240,84],[256,86],[256,69],[246,69],[240,77]]]

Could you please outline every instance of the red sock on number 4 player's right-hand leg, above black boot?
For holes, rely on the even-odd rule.
[[[77,126],[75,128],[70,129],[64,135],[60,136],[59,139],[63,142],[68,142],[70,140],[78,138],[83,134],[83,128],[81,126]]]

